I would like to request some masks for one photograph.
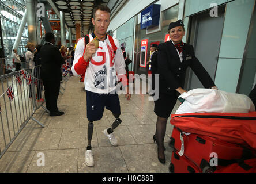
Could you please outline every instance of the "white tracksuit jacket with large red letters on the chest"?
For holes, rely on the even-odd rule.
[[[92,40],[92,34],[89,34],[89,41]],[[116,72],[118,77],[126,74],[121,46],[118,40],[114,39],[114,42],[117,47],[116,54],[114,54],[114,49],[108,37],[104,41],[99,41],[99,48],[91,57],[85,72],[85,90],[100,94],[110,93],[115,90],[115,83],[118,80]],[[75,66],[83,57],[84,49],[85,39],[83,38],[78,41],[74,56],[72,72],[75,76],[81,75],[77,73]]]

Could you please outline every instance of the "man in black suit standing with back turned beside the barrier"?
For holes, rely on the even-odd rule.
[[[65,59],[54,46],[54,34],[46,33],[45,40],[46,44],[41,48],[40,56],[46,108],[50,111],[50,116],[62,116],[64,112],[58,110],[57,101],[62,79],[61,66],[65,64]]]

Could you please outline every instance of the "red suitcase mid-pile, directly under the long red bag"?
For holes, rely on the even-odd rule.
[[[182,148],[182,141],[180,140],[181,132],[179,128],[174,127],[170,141],[170,146],[174,148],[178,154]],[[212,153],[217,154],[218,166],[231,164],[235,159],[242,158],[244,154],[243,147],[227,143],[220,139],[194,133],[187,136],[181,133],[181,135],[184,142],[183,154],[202,170],[204,170],[205,167],[209,167],[210,160],[214,157],[211,155]],[[182,153],[180,153],[180,156],[182,156]],[[251,156],[250,153],[249,156]]]

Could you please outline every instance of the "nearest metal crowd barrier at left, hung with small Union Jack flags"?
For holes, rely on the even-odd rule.
[[[44,127],[33,115],[44,108],[40,66],[0,76],[0,158],[29,120]],[[47,110],[46,108],[44,108]],[[48,110],[47,110],[48,111]]]

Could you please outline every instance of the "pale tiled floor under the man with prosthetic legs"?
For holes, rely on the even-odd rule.
[[[61,117],[50,117],[42,108],[34,117],[45,125],[41,128],[29,121],[20,135],[0,159],[0,172],[168,172],[171,148],[168,140],[172,133],[170,120],[165,136],[165,156],[167,163],[157,159],[157,145],[152,136],[156,128],[154,103],[148,95],[133,95],[126,101],[120,95],[122,124],[115,130],[119,146],[112,147],[103,135],[114,117],[105,110],[103,119],[95,122],[92,147],[94,167],[85,165],[87,145],[86,93],[84,84],[78,78],[63,82],[64,94],[59,95]],[[176,105],[174,110],[178,106]],[[37,166],[44,154],[45,165]]]

